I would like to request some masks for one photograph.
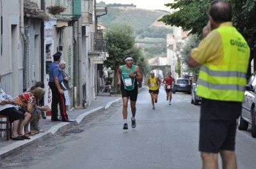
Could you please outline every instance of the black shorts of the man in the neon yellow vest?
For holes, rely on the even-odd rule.
[[[241,115],[242,103],[203,99],[200,112],[199,151],[218,153],[234,151],[236,119]]]

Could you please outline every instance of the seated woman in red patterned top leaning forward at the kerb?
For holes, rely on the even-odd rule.
[[[45,107],[36,106],[36,99],[39,99],[39,100],[42,99],[44,97],[44,94],[45,94],[44,89],[42,89],[41,87],[36,87],[31,92],[23,92],[22,94],[20,94],[15,98],[15,100],[19,105],[19,110],[21,112],[24,112],[24,115],[25,115],[24,124],[22,124],[22,121],[21,121],[19,125],[19,135],[24,135],[24,134],[26,136],[35,135],[35,133],[32,134],[28,129],[29,122],[35,107],[38,108],[39,110],[50,111],[50,108],[48,106],[45,106]],[[23,126],[24,126],[24,130],[23,130]]]

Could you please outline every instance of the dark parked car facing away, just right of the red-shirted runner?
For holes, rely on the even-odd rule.
[[[173,94],[175,92],[188,92],[191,93],[191,85],[187,78],[177,78],[173,86]]]

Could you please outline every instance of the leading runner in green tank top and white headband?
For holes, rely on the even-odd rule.
[[[142,81],[142,75],[140,73],[140,68],[133,63],[133,57],[128,55],[125,57],[125,65],[119,66],[117,71],[118,85],[121,86],[122,98],[123,98],[123,117],[124,117],[124,127],[123,129],[128,129],[127,124],[127,107],[128,99],[131,100],[131,111],[132,111],[132,128],[136,127],[136,100],[138,96],[138,84],[137,82]],[[122,80],[121,80],[122,78]]]

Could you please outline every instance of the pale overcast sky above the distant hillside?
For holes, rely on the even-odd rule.
[[[104,1],[106,4],[120,3],[120,4],[135,4],[137,8],[143,8],[148,10],[168,10],[169,8],[164,6],[166,3],[171,3],[173,0],[97,0]]]

